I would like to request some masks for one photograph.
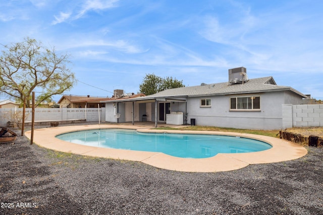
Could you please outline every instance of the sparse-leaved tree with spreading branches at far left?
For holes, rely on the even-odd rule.
[[[35,106],[53,95],[62,94],[76,82],[67,64],[69,55],[60,55],[29,37],[23,42],[3,45],[0,56],[0,92],[30,107],[32,91],[41,91]]]

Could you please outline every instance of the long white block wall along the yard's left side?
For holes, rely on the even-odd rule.
[[[7,126],[8,121],[15,121],[15,116],[22,116],[22,108],[0,108],[0,126]],[[31,121],[32,109],[26,108],[25,121]],[[105,121],[105,108],[35,108],[35,122],[86,119],[94,122]]]

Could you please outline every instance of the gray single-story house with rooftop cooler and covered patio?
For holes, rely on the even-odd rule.
[[[306,95],[279,86],[273,77],[248,79],[246,68],[229,69],[228,82],[165,90],[153,95],[101,101],[105,121],[147,120],[244,129],[282,128],[283,104],[302,104]],[[180,115],[180,116],[179,116]],[[144,117],[143,117],[144,116]]]

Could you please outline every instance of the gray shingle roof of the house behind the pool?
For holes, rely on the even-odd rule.
[[[272,83],[272,84],[268,84]],[[298,92],[291,87],[278,86],[273,77],[264,77],[257,79],[249,79],[243,84],[228,84],[227,82],[218,84],[208,84],[205,86],[182,87],[165,90],[148,97],[162,97],[162,96],[203,96],[203,95],[226,95],[226,94],[242,94],[242,93],[258,93],[268,91],[282,91],[291,90],[296,94],[306,97],[304,94]]]

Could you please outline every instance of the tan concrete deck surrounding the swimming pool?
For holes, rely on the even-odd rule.
[[[125,128],[136,129],[138,132],[152,133],[186,133],[186,134],[217,134],[240,136],[246,138],[257,139],[267,142],[273,148],[253,153],[239,154],[218,154],[211,158],[178,158],[164,153],[143,152],[119,149],[105,149],[92,146],[83,146],[73,144],[56,138],[56,135],[79,131],[103,128]],[[25,135],[30,138],[31,131],[26,131]],[[221,172],[231,171],[244,168],[250,164],[267,164],[275,162],[283,162],[301,158],[307,154],[307,150],[291,141],[262,136],[257,134],[236,133],[236,132],[220,132],[220,131],[191,131],[191,130],[158,130],[151,127],[142,127],[136,125],[124,124],[97,124],[97,125],[74,125],[74,126],[58,126],[40,128],[34,130],[34,143],[38,146],[56,150],[60,152],[73,153],[92,157],[139,161],[160,169],[168,169],[183,172]]]

